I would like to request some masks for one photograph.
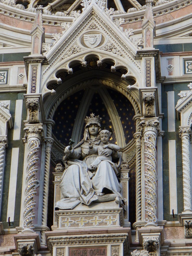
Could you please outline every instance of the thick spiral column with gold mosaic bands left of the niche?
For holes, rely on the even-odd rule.
[[[23,213],[23,227],[22,232],[33,232],[34,225],[32,221],[35,218],[33,211],[36,202],[34,197],[36,196],[36,184],[37,178],[35,174],[38,172],[37,162],[39,159],[39,145],[41,138],[43,137],[43,128],[38,127],[26,127],[24,128],[25,138],[27,139],[27,168],[26,168],[26,188],[25,188],[25,200],[24,200],[24,213]]]

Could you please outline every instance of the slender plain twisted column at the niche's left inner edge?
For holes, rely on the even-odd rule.
[[[42,226],[47,226],[47,212],[48,212],[48,194],[49,194],[49,169],[51,159],[51,146],[53,144],[51,137],[45,138],[45,173],[44,173],[44,189],[43,189],[43,208],[42,208]],[[46,246],[45,231],[41,231],[41,245]]]

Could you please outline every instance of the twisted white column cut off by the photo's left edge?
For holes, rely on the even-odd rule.
[[[0,210],[3,190],[3,176],[5,167],[5,148],[8,147],[7,136],[0,136]]]

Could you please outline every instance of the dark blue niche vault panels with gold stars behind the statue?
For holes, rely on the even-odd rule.
[[[125,144],[127,144],[132,140],[133,134],[135,133],[135,123],[133,121],[135,112],[133,106],[123,94],[111,89],[107,89],[107,91],[118,112],[124,132]],[[55,127],[53,129],[53,134],[64,146],[68,145],[69,139],[71,138],[74,121],[76,119],[77,112],[79,111],[83,94],[84,90],[81,90],[69,96],[61,102],[54,114],[53,120],[55,121]],[[99,115],[102,118],[101,128],[112,131],[110,142],[115,144],[115,131],[108,112],[111,112],[110,114],[113,115],[112,110],[106,108],[99,95],[99,91],[95,92],[86,115],[89,116],[91,113]],[[82,139],[83,131],[81,131],[81,134]]]

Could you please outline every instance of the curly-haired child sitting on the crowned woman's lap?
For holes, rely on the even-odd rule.
[[[91,165],[89,165],[88,169],[90,171],[93,172],[93,171],[97,170],[101,161],[104,161],[104,160],[112,161],[111,155],[114,153],[114,151],[119,151],[118,145],[108,144],[110,136],[111,136],[110,131],[102,130],[99,133],[99,138],[101,140],[101,143],[98,146],[93,147],[93,142],[92,141],[89,142],[89,153],[98,155],[98,157],[93,161],[93,163]],[[109,148],[109,149],[113,150],[111,155],[109,155],[109,156],[103,155],[103,150],[105,148]]]

